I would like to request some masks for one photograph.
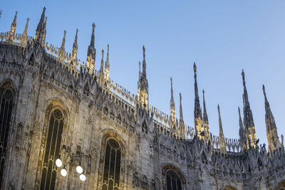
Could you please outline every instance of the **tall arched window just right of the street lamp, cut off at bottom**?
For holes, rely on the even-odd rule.
[[[121,150],[118,142],[109,139],[106,145],[103,190],[118,190],[120,185]]]

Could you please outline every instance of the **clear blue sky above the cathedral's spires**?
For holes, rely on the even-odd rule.
[[[285,134],[285,1],[5,1],[0,5],[0,31],[9,31],[18,11],[16,33],[24,31],[30,18],[28,35],[34,36],[43,6],[46,41],[60,47],[66,30],[66,51],[71,52],[78,28],[78,58],[84,61],[94,22],[95,68],[100,66],[100,51],[106,52],[110,44],[110,78],[133,93],[144,45],[150,104],[170,113],[172,76],[177,117],[181,92],[190,126],[196,62],[199,97],[201,101],[204,89],[213,134],[219,134],[219,103],[224,136],[239,137],[237,107],[242,108],[244,68],[257,138],[267,143],[262,84],[279,137]]]

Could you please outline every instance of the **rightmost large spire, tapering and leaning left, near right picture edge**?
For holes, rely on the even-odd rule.
[[[266,125],[268,148],[269,148],[269,151],[272,152],[272,151],[274,151],[274,149],[281,148],[281,143],[279,141],[274,116],[271,112],[269,102],[268,102],[267,97],[266,97],[264,85],[262,85],[262,89],[263,89],[263,94],[264,94],[265,125]]]

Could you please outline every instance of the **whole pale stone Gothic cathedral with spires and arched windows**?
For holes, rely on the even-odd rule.
[[[194,125],[175,113],[172,78],[170,115],[150,105],[146,50],[136,94],[110,79],[109,46],[95,70],[95,24],[87,60],[46,42],[46,8],[34,36],[0,33],[1,189],[98,190],[285,190],[284,138],[277,134],[264,92],[268,146],[259,144],[242,70],[239,137],[210,132],[200,105],[194,63]],[[99,53],[100,54],[100,53]]]

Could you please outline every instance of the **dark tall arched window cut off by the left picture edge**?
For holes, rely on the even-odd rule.
[[[8,134],[10,128],[10,121],[12,110],[14,106],[14,93],[10,88],[1,90],[1,107],[0,107],[0,189],[3,184],[3,174],[6,161],[6,150],[8,142]]]

